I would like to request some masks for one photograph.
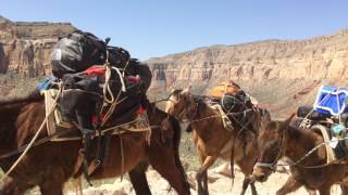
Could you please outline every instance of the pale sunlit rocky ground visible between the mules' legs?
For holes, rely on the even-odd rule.
[[[196,172],[190,171],[187,173],[188,180],[190,183],[195,184],[195,177]],[[243,173],[236,168],[235,171],[236,179],[234,182],[234,186],[232,187],[232,180],[228,176],[229,169],[226,165],[221,165],[209,172],[209,187],[210,194],[212,195],[231,195],[231,194],[239,194],[241,190]],[[285,183],[287,177],[289,174],[286,171],[276,172],[272,174],[268,182],[265,183],[257,183],[258,193],[261,195],[273,195],[275,192]],[[149,180],[149,185],[151,187],[151,192],[154,195],[175,195],[176,193],[170,188],[169,183],[163,180],[156,171],[150,170],[147,172],[147,178]],[[69,194],[74,194],[70,192]],[[103,184],[98,187],[88,187],[84,190],[84,195],[133,195],[135,194],[134,190],[132,188],[132,184],[128,180],[121,181],[117,179],[112,184]],[[191,188],[191,194],[197,194],[196,188]],[[247,194],[251,194],[250,188],[248,188]],[[307,194],[306,190],[301,187],[297,192],[293,194]],[[339,187],[334,186],[332,188],[332,194],[340,194]]]

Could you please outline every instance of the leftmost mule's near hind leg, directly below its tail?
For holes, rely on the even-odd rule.
[[[186,177],[175,164],[175,157],[173,150],[166,150],[164,146],[153,150],[149,154],[150,164],[154,170],[157,170],[177,192],[177,194],[187,195],[190,194],[189,184]]]

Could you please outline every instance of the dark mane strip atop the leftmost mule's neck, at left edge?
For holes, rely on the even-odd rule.
[[[9,96],[9,98],[0,99],[0,106],[32,103],[32,102],[38,102],[41,100],[44,100],[44,96],[40,95],[38,91],[32,91],[30,93],[23,96]]]

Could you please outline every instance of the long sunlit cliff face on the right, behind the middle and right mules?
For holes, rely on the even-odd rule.
[[[312,103],[321,84],[347,83],[348,29],[306,40],[200,48],[148,63],[153,91],[191,83],[207,92],[232,79],[271,110],[283,114],[294,105]]]

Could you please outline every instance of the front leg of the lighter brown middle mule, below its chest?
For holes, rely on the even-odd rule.
[[[197,172],[197,176],[196,176],[196,180],[197,180],[197,184],[198,184],[198,195],[206,195],[206,194],[209,194],[208,192],[208,182],[207,184],[207,188],[203,188],[202,187],[202,179],[204,179],[204,174],[207,176],[208,178],[208,174],[204,173],[208,171],[208,169],[214,165],[215,160],[217,159],[217,157],[215,156],[207,156],[204,161],[203,161],[203,165],[199,168],[198,172]],[[208,180],[208,179],[207,179]],[[204,179],[206,181],[206,179]]]

